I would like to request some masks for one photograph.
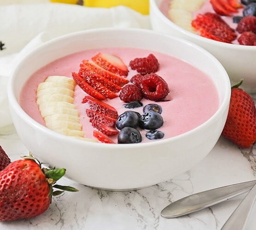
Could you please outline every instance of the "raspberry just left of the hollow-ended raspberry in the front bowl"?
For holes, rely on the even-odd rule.
[[[129,84],[122,88],[119,98],[124,102],[140,101],[142,94],[137,86]]]

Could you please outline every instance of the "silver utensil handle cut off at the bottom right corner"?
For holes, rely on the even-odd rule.
[[[238,205],[221,230],[244,230],[249,219],[251,210],[256,199],[256,184],[250,192],[244,197],[243,201]]]

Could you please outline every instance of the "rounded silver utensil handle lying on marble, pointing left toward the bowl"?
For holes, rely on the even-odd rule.
[[[248,192],[256,184],[256,180],[226,185],[212,190],[199,192],[179,199],[161,211],[164,218],[174,218],[196,212],[227,199]]]

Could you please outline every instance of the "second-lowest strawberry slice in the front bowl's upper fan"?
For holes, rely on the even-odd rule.
[[[80,75],[80,77],[82,76]],[[106,86],[102,85],[99,81],[95,80],[94,78],[90,78],[88,75],[83,75],[83,80],[86,83],[88,83],[91,87],[93,87],[95,90],[104,95],[106,98],[113,99],[118,97],[118,95],[115,94],[113,91],[108,89]]]

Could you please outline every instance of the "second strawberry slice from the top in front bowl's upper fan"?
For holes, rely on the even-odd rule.
[[[114,84],[116,84],[118,86],[124,86],[125,84],[127,84],[129,82],[126,78],[121,77],[119,75],[115,75],[115,74],[107,71],[106,69],[101,68],[100,66],[96,65],[95,63],[89,62],[88,60],[83,60],[82,63],[83,63],[84,69],[92,70],[96,74],[107,78],[108,81],[112,81]],[[81,65],[80,65],[80,67],[81,67]]]

